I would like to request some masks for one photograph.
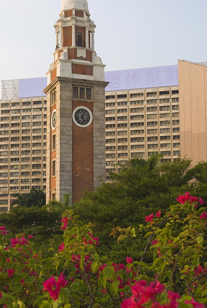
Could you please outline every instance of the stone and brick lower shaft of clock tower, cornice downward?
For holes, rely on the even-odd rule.
[[[105,87],[108,83],[85,79],[56,77],[44,90],[47,94],[47,201],[62,201],[70,193],[72,203],[80,200],[85,189],[100,184],[106,172],[105,159]],[[91,99],[74,99],[73,88],[91,89]],[[56,99],[52,101],[52,93]],[[86,97],[85,97],[86,98]],[[88,127],[72,120],[75,108],[84,106],[93,115]],[[56,128],[51,116],[56,110]],[[55,135],[55,148],[53,144]],[[55,162],[55,163],[54,163]],[[53,170],[55,165],[55,172]]]

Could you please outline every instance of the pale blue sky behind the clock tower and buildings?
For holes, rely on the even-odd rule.
[[[88,0],[106,71],[207,61],[206,0]],[[0,80],[42,77],[61,0],[1,1]]]

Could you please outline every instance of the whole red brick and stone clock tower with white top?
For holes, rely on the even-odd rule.
[[[47,94],[47,201],[72,203],[106,172],[104,67],[86,0],[63,0]]]

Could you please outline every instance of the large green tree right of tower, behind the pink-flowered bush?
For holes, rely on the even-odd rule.
[[[123,262],[126,255],[139,257],[143,248],[141,240],[127,239],[121,244],[108,238],[116,226],[139,228],[145,216],[173,204],[179,194],[186,191],[207,201],[207,163],[190,168],[191,160],[181,159],[164,163],[156,168],[136,165],[110,173],[111,183],[103,183],[94,192],[72,206],[84,222],[95,225],[94,235],[101,238],[101,253],[115,261]],[[138,253],[139,252],[139,253]],[[147,255],[147,260],[152,254]]]

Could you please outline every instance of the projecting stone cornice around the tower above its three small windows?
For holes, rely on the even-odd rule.
[[[77,78],[67,78],[67,77],[56,77],[44,90],[43,92],[47,94],[58,82],[72,83],[75,85],[85,85],[85,86],[103,86],[106,87],[108,81],[98,81],[98,80],[88,80],[88,79],[77,79]]]

